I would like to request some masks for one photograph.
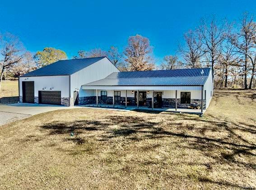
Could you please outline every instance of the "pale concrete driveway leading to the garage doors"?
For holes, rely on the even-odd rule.
[[[30,117],[31,115],[41,114],[48,111],[70,109],[70,108],[81,108],[77,106],[65,107],[56,105],[45,105],[45,104],[28,104],[28,103],[17,103],[9,105],[0,104],[0,125],[7,124],[9,122]]]

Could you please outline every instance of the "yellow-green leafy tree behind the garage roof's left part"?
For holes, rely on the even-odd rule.
[[[64,51],[55,48],[44,48],[42,51],[37,51],[34,56],[39,67],[47,66],[59,60],[67,59]]]

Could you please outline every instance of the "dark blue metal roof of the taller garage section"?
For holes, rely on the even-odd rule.
[[[60,60],[50,65],[43,66],[35,71],[22,75],[26,76],[53,76],[53,75],[72,75],[73,73],[92,65],[104,57],[91,57],[83,59]]]

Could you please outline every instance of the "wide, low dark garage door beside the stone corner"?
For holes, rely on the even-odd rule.
[[[61,105],[61,91],[38,91],[39,104]]]

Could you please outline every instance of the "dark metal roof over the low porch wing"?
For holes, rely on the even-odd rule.
[[[83,86],[184,86],[204,85],[210,68],[114,72]]]

